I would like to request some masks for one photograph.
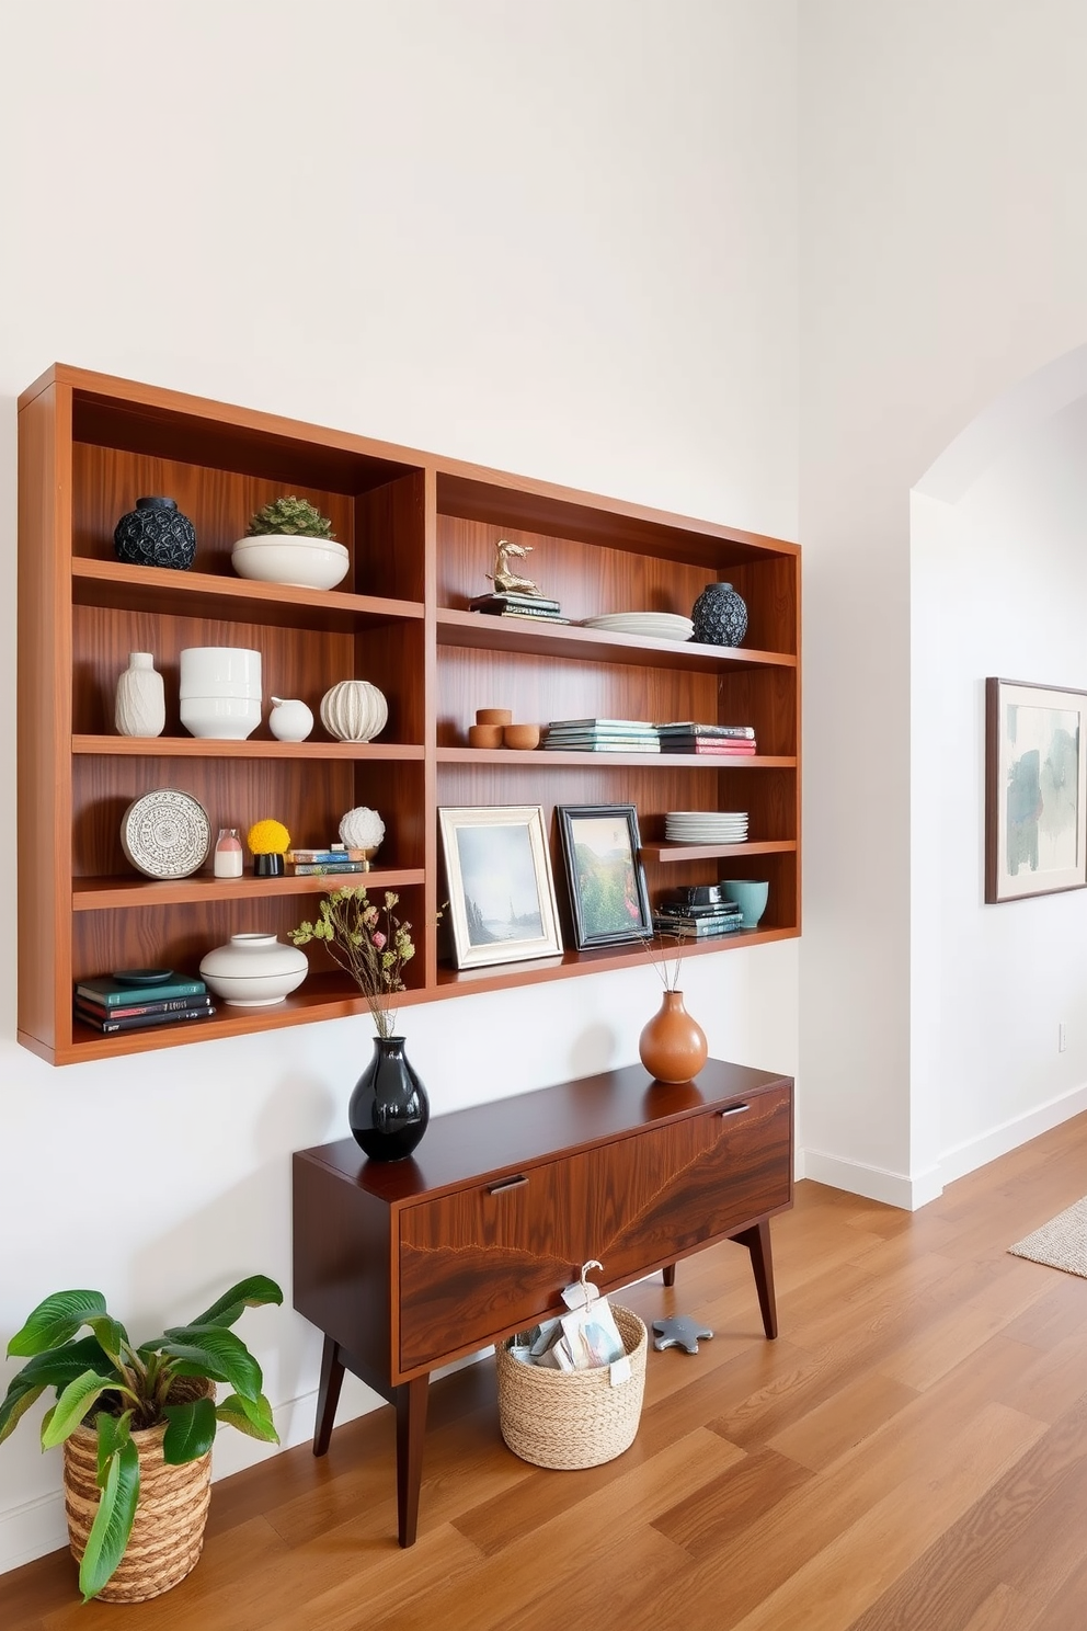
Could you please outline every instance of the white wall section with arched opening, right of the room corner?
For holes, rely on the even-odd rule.
[[[909,491],[1087,334],[1087,8],[805,0],[799,16],[800,1142],[808,1176],[913,1205],[939,1192],[940,1148],[909,1091]]]

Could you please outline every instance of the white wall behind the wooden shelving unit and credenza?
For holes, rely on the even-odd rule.
[[[15,396],[54,359],[795,537],[792,0],[39,0],[0,57],[8,577]],[[8,696],[13,648],[8,594]],[[33,840],[8,923],[16,869],[33,891]],[[65,1285],[145,1334],[238,1274],[287,1284],[288,1153],[342,1134],[367,1023],[51,1070],[13,979],[8,944],[0,1337]],[[684,985],[714,1052],[795,1070],[794,944]],[[409,1047],[443,1112],[636,1059],[657,992],[645,967],[416,1008]],[[243,1333],[305,1439],[316,1334]],[[222,1434],[217,1471],[254,1453]],[[62,1543],[59,1479],[33,1424],[0,1447],[0,1569]]]

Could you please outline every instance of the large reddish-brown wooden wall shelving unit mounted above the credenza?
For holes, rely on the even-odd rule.
[[[114,559],[117,519],[166,493],[196,525],[189,572]],[[331,592],[248,582],[230,551],[248,517],[282,493],[331,515],[350,572]],[[570,618],[614,610],[689,612],[712,577],[748,603],[735,651],[631,639],[579,626],[484,618],[497,537],[533,546],[531,572]],[[18,1037],[54,1063],[176,1047],[357,1013],[363,1003],[321,954],[272,1010],[220,1005],[200,1026],[103,1037],[72,1018],[75,980],[109,969],[196,969],[231,933],[280,936],[311,915],[319,879],[153,882],[121,853],[125,806],[156,786],[192,793],[212,830],[284,820],[324,843],[354,804],[388,835],[370,874],[401,894],[419,956],[406,1003],[627,967],[640,948],[458,972],[440,961],[442,804],[629,802],[639,809],[650,895],[722,874],[769,877],[758,931],[689,946],[735,951],[800,931],[800,553],[763,538],[546,483],[481,470],[345,432],[135,385],[57,364],[20,398]],[[378,685],[389,721],[372,744],[197,740],[178,718],[184,646],[256,646],[264,693],[318,711],[336,680]],[[166,729],[112,729],[130,651],[155,652]],[[756,727],[740,763],[686,755],[474,752],[477,708],[521,721],[588,714],[720,719]],[[746,845],[670,845],[668,809],[746,809]],[[554,822],[551,822],[554,829]],[[28,858],[34,860],[34,864]],[[552,835],[562,899],[559,848]]]

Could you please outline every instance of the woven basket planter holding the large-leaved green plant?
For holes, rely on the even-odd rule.
[[[213,1393],[213,1383],[199,1377],[178,1378],[171,1403]],[[132,1434],[140,1456],[140,1499],[132,1536],[96,1602],[143,1603],[184,1580],[204,1548],[204,1525],[212,1499],[212,1452],[183,1466],[163,1461],[166,1424]],[[64,1509],[68,1520],[72,1556],[81,1561],[86,1538],[98,1512],[98,1434],[77,1427],[64,1440]]]

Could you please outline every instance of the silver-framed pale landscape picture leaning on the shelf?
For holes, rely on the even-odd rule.
[[[458,969],[562,951],[538,804],[438,809]]]

